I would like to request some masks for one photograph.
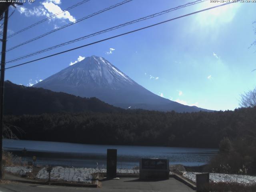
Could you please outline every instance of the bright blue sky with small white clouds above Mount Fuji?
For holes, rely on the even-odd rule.
[[[8,23],[12,34],[80,0],[36,0],[17,8]],[[90,0],[66,15],[39,24],[8,39],[7,48],[114,5],[121,0]],[[186,4],[186,0],[133,0],[7,52],[6,60],[48,48],[86,34]],[[107,32],[39,54],[20,64],[96,40],[216,5],[203,2],[156,18]],[[10,8],[10,13],[12,12]],[[6,70],[6,80],[29,86],[66,68],[71,62],[96,55],[106,58],[151,92],[187,105],[234,110],[240,94],[256,85],[256,3],[233,3],[180,18],[146,30],[94,44],[38,62]],[[79,58],[79,59],[78,59]]]

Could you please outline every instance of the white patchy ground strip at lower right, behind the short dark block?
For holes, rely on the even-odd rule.
[[[183,176],[196,182],[198,172],[184,172]],[[243,184],[256,184],[256,176],[210,173],[210,182],[237,182]]]

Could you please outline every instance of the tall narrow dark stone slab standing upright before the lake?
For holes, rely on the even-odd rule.
[[[117,150],[107,149],[107,178],[116,178]]]

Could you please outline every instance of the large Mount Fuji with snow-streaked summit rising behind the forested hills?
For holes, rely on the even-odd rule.
[[[211,111],[162,98],[142,87],[103,57],[90,56],[34,84],[33,87],[96,97],[121,108],[176,112]]]

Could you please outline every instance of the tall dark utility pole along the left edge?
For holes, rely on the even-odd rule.
[[[8,24],[8,10],[4,13],[4,30],[2,39],[2,57],[1,57],[1,73],[0,73],[0,179],[2,179],[2,137],[3,137],[3,113],[4,113],[4,70],[5,70],[5,53],[6,53],[6,39],[7,39],[7,24]]]

